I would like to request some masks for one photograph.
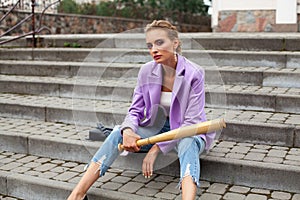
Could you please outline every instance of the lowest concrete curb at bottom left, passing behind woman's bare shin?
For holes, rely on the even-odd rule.
[[[75,184],[61,181],[49,180],[39,177],[33,177],[23,174],[0,173],[0,180],[7,182],[7,192],[1,194],[21,198],[21,199],[67,199]],[[1,184],[1,183],[0,183]],[[2,185],[2,184],[1,184]],[[108,200],[128,200],[139,199],[141,196],[117,191],[107,192],[104,189],[91,188],[88,192],[89,199],[108,199]],[[143,197],[143,199],[153,199]]]

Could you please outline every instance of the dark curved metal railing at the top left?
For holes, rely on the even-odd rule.
[[[51,30],[50,30],[50,28],[49,27],[47,27],[47,26],[42,26],[42,24],[43,24],[43,17],[44,17],[44,14],[45,14],[45,11],[49,8],[49,7],[51,7],[52,5],[54,5],[54,4],[56,4],[56,3],[59,3],[61,0],[57,0],[57,1],[55,1],[55,2],[53,2],[53,3],[51,3],[51,4],[49,4],[48,6],[46,6],[44,9],[43,9],[43,11],[41,12],[41,14],[40,14],[40,22],[39,22],[39,25],[37,26],[37,28],[36,28],[36,26],[35,26],[35,6],[36,6],[36,2],[35,2],[35,0],[31,0],[31,14],[30,15],[28,15],[27,17],[25,17],[23,20],[21,20],[19,23],[17,23],[16,25],[14,25],[13,27],[11,27],[9,30],[7,30],[5,33],[3,33],[3,34],[1,34],[0,35],[0,39],[3,37],[3,36],[5,36],[5,35],[7,35],[8,33],[10,33],[11,31],[13,31],[13,30],[15,30],[15,29],[17,29],[20,25],[22,25],[23,23],[25,23],[28,19],[30,19],[31,18],[31,26],[32,26],[32,28],[31,28],[31,31],[30,32],[28,32],[28,33],[24,33],[24,34],[22,34],[22,35],[19,35],[19,36],[16,36],[16,37],[13,37],[13,38],[10,38],[10,39],[6,39],[6,40],[3,40],[3,41],[0,41],[0,45],[2,45],[2,44],[6,44],[6,43],[8,43],[8,42],[12,42],[12,41],[15,41],[15,40],[18,40],[18,39],[20,39],[20,38],[23,38],[23,37],[26,37],[26,36],[30,36],[30,35],[32,35],[32,47],[36,47],[37,46],[37,44],[36,44],[36,34],[39,34],[41,31],[43,31],[43,30],[47,30],[47,31],[49,31],[50,33],[51,33]],[[10,10],[8,10],[2,17],[1,17],[1,19],[0,19],[0,24],[1,24],[1,22],[11,13],[11,12],[13,12],[13,10],[17,7],[17,5],[18,4],[20,4],[20,0],[18,0],[16,3],[15,3],[15,5],[10,9]]]

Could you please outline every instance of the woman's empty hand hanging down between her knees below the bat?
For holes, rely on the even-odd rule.
[[[153,175],[153,166],[155,160],[157,158],[158,153],[160,152],[159,147],[155,144],[151,147],[149,152],[147,153],[146,157],[143,160],[143,175],[145,178],[150,178]]]

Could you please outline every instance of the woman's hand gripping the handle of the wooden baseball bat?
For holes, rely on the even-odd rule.
[[[123,147],[129,152],[138,152],[140,147],[136,145],[136,141],[141,139],[141,137],[133,132],[131,128],[126,128],[123,130]]]

